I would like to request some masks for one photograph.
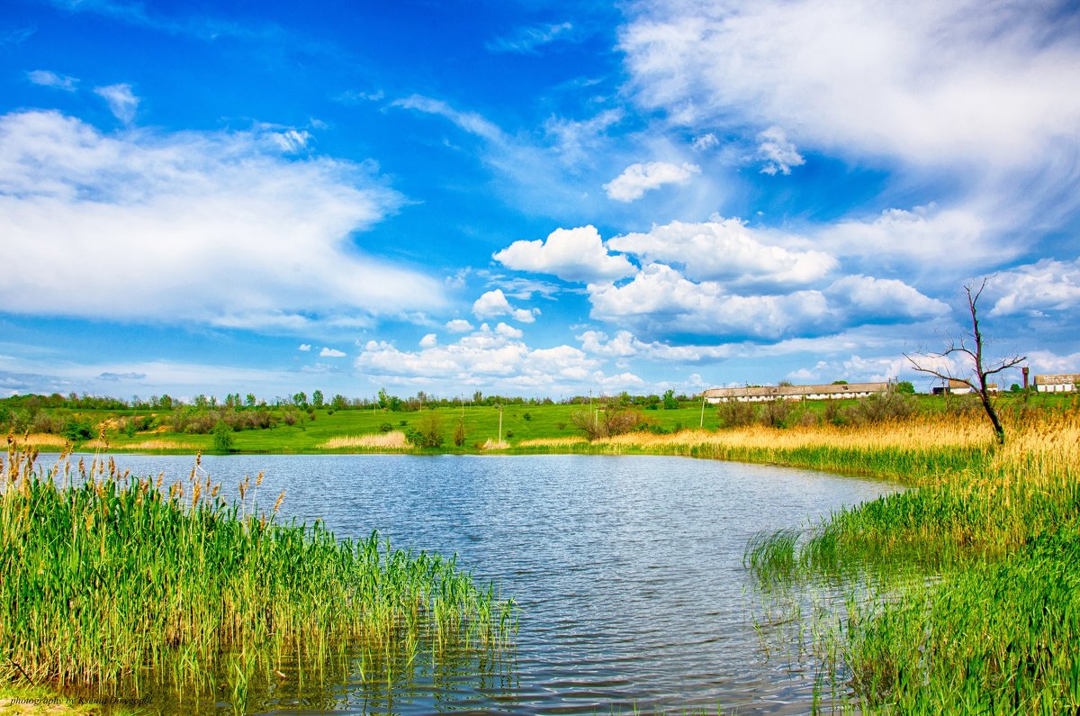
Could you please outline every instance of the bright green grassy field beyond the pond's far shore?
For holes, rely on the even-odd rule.
[[[1017,396],[1003,394],[999,399],[1001,409],[1010,410],[1043,410],[1057,409],[1069,403],[1067,395],[1031,395]],[[943,398],[940,396],[913,396],[910,398],[916,413],[930,414],[966,414],[977,413],[977,407],[971,396]],[[724,419],[717,408],[706,405],[704,411],[701,402],[681,401],[677,409],[639,410],[629,406],[629,410],[637,411],[643,420],[638,429],[665,434],[684,428],[704,427],[716,430],[725,427]],[[795,428],[800,425],[818,422],[828,422],[837,414],[855,410],[858,400],[810,400],[794,402],[787,406],[789,414],[782,426]],[[593,403],[598,410],[604,406],[600,400]],[[759,406],[754,407],[760,410]],[[192,414],[213,414],[213,409],[197,411],[184,408]],[[218,409],[220,411],[220,409]],[[238,453],[316,453],[316,452],[372,452],[372,451],[417,451],[417,452],[477,452],[485,448],[488,441],[496,442],[501,437],[509,449],[522,447],[530,440],[572,440],[582,438],[585,433],[573,423],[575,413],[588,414],[590,405],[564,403],[514,403],[504,406],[501,410],[495,406],[464,405],[453,408],[424,408],[413,411],[392,411],[380,408],[333,410],[297,410],[284,408],[240,408],[238,414],[262,411],[273,421],[271,427],[262,429],[241,429],[230,433],[229,452]],[[9,410],[9,414],[13,411]],[[214,435],[206,433],[174,432],[171,427],[171,413],[156,410],[133,409],[97,409],[84,410],[72,408],[42,408],[38,411],[38,423],[52,425],[49,433],[35,430],[32,427],[11,429],[9,432],[18,439],[29,434],[36,445],[42,450],[59,449],[65,441],[77,450],[102,450],[108,448],[114,451],[194,453],[222,452],[215,450]],[[287,424],[285,417],[292,415],[295,423]],[[438,449],[404,446],[395,448],[346,447],[328,448],[326,443],[334,438],[375,436],[386,432],[408,432],[419,427],[426,416],[435,415],[440,422],[440,432],[444,438]],[[41,416],[46,420],[42,421]],[[125,430],[126,421],[139,422],[140,427],[148,429]],[[65,425],[72,422],[86,428],[82,437],[86,439],[65,440]],[[460,424],[464,427],[464,440],[460,447],[455,446],[454,434]],[[2,425],[0,425],[2,427]],[[52,435],[53,437],[48,437]],[[100,439],[104,437],[104,441]],[[488,446],[490,447],[490,446]],[[548,446],[551,448],[552,446]],[[526,446],[527,448],[527,446]],[[562,448],[566,449],[566,448]]]

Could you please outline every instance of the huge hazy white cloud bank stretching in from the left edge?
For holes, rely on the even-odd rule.
[[[285,159],[251,133],[9,114],[0,309],[283,331],[437,309],[438,282],[354,247],[400,202],[364,165]]]

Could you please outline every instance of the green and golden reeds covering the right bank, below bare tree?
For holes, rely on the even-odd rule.
[[[1076,713],[1080,412],[1012,416],[1003,447],[988,427],[969,435],[954,420],[919,421],[906,449],[892,442],[899,425],[850,429],[847,443],[778,445],[778,462],[816,467],[852,453],[859,469],[913,487],[809,532],[762,535],[747,565],[762,583],[848,585],[847,619],[815,625],[827,634],[815,648],[832,690],[862,711]]]

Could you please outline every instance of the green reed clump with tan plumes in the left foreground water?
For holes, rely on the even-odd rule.
[[[456,558],[279,523],[284,493],[260,508],[261,476],[227,504],[198,461],[165,487],[111,459],[35,459],[11,443],[0,461],[3,681],[131,695],[226,678],[239,713],[246,685],[286,658],[318,667],[342,645],[497,653],[515,628],[513,602]]]

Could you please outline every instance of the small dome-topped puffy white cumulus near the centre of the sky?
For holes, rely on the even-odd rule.
[[[508,268],[554,274],[566,281],[612,280],[637,270],[625,256],[607,252],[594,226],[558,228],[546,241],[514,241],[491,257]]]

